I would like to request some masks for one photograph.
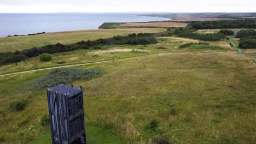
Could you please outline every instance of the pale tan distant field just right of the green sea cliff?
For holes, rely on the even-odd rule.
[[[185,27],[188,23],[179,22],[129,22],[121,26],[128,27]]]

